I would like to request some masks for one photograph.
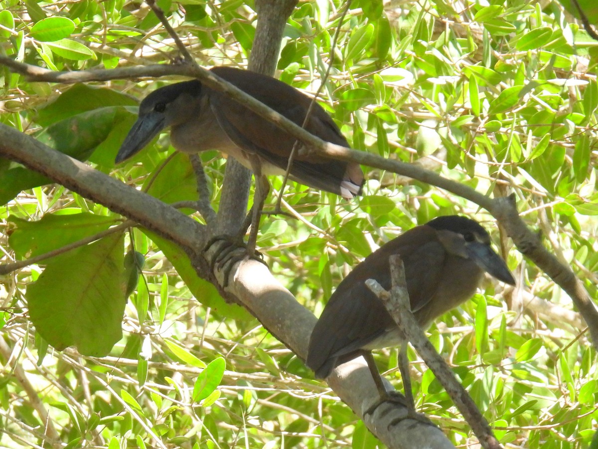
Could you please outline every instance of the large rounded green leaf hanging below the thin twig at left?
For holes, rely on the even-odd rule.
[[[103,357],[122,338],[123,244],[118,234],[56,256],[28,286],[33,325],[56,349]]]

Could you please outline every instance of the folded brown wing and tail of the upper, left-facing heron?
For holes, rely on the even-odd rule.
[[[228,67],[213,68],[212,71],[299,126],[303,125],[311,99],[295,88],[255,72]],[[292,136],[224,94],[210,90],[210,103],[218,123],[236,145],[280,169],[286,169],[295,143]],[[306,129],[328,142],[349,146],[332,118],[318,103],[314,105]],[[318,155],[298,155],[291,175],[303,184],[337,194],[341,193],[341,182],[350,181],[359,188],[364,179],[358,164]]]

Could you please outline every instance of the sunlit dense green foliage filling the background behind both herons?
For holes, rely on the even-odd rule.
[[[62,71],[176,56],[144,4],[1,4],[0,48],[21,62]],[[246,66],[252,2],[158,5],[202,65]],[[596,299],[598,43],[556,1],[354,0],[341,23],[342,7],[336,0],[298,4],[279,78],[311,93],[332,64],[321,104],[353,148],[420,164],[489,196],[514,193],[526,223]],[[163,201],[195,200],[187,157],[163,167],[173,152],[166,133],[114,166],[136,117],[133,97],[170,81],[28,83],[3,68],[0,120]],[[202,160],[218,207],[225,160],[216,152]],[[503,444],[588,447],[598,421],[596,355],[569,298],[476,204],[364,170],[364,196],[350,202],[294,183],[286,188],[283,206],[299,219],[265,219],[258,240],[280,282],[318,315],[347,270],[401,230],[438,215],[475,216],[500,242],[519,286],[487,282],[432,326],[431,340]],[[282,179],[270,182],[279,193]],[[123,221],[8,160],[0,160],[0,200],[3,263]],[[119,228],[3,281],[2,447],[42,445],[44,429],[48,441],[69,447],[377,444],[300,359],[226,304],[184,252],[147,230]],[[65,349],[71,345],[78,351]],[[396,382],[395,353],[380,351],[377,360]],[[413,366],[417,405],[455,444],[468,442],[468,426],[434,375]]]

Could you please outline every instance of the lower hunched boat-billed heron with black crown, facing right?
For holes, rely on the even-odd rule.
[[[306,364],[316,377],[328,377],[358,352],[398,346],[404,340],[382,301],[365,285],[367,279],[375,279],[390,289],[389,256],[395,254],[403,261],[411,310],[422,328],[471,298],[484,272],[515,284],[478,222],[450,215],[417,226],[373,252],[338,285],[309,342]],[[380,389],[382,382],[371,366],[371,356],[368,365]]]

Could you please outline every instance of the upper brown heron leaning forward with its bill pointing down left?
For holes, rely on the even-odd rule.
[[[303,126],[312,99],[294,87],[242,69],[215,67],[211,71]],[[257,236],[259,213],[269,190],[264,175],[285,173],[297,139],[199,80],[184,81],[158,88],[145,97],[139,106],[139,118],[118,151],[116,163],[140,151],[166,127],[170,127],[170,142],[178,151],[197,153],[218,149],[254,172],[258,200],[254,198],[252,234]],[[322,140],[349,146],[332,118],[317,103],[313,105],[305,129]],[[289,176],[300,184],[343,198],[360,194],[364,183],[359,164],[309,151],[297,152]],[[251,236],[249,245],[255,245]]]

